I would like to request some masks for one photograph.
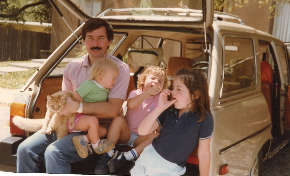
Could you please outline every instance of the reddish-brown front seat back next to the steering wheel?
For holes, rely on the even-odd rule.
[[[192,68],[193,60],[187,57],[172,56],[168,60],[167,75],[175,76],[176,72],[181,68]]]

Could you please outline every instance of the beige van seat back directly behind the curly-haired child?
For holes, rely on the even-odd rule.
[[[141,49],[131,46],[128,48],[127,63],[129,65],[131,73],[135,73],[139,69],[139,67],[153,65],[159,66],[161,64],[162,59],[163,59],[162,47]]]

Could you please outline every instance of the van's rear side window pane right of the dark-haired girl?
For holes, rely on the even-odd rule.
[[[248,91],[256,85],[252,39],[224,37],[222,97]]]

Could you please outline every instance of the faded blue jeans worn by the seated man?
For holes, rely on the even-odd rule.
[[[71,133],[56,141],[56,134],[40,134],[39,131],[24,140],[17,149],[17,172],[40,173],[44,162],[46,173],[70,174],[70,163],[84,161],[79,157],[72,138],[85,132]],[[92,155],[96,155],[93,152]],[[89,153],[89,157],[90,156]]]

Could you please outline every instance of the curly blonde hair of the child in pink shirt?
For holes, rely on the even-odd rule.
[[[166,69],[158,67],[158,66],[149,66],[144,70],[144,72],[138,78],[137,89],[142,89],[144,87],[145,79],[150,74],[164,77],[164,84],[163,84],[162,90],[167,89],[170,86],[170,81],[168,80]]]

